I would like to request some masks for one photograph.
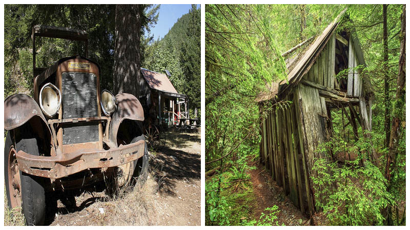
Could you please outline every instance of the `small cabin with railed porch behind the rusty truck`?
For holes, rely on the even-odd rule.
[[[189,98],[177,92],[167,75],[146,68],[141,68],[141,73],[144,81],[139,84],[139,101],[149,122],[170,127],[189,119]]]

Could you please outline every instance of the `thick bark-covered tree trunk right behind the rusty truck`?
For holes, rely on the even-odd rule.
[[[139,84],[143,81],[140,63],[142,5],[116,5],[114,93],[130,93],[139,96]]]

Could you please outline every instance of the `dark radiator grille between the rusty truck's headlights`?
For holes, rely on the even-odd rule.
[[[97,77],[92,73],[65,72],[61,75],[63,119],[98,117]],[[63,126],[63,144],[98,141],[98,122]]]

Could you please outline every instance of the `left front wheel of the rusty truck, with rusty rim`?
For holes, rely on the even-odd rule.
[[[15,156],[19,150],[39,155],[37,140],[27,133],[15,146],[10,132],[7,133],[4,148],[6,194],[10,209],[22,206],[27,225],[43,225],[46,217],[45,178],[20,171]]]

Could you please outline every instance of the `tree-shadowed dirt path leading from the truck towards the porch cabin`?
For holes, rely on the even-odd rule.
[[[159,178],[158,225],[201,224],[200,133],[171,133],[151,162]]]

